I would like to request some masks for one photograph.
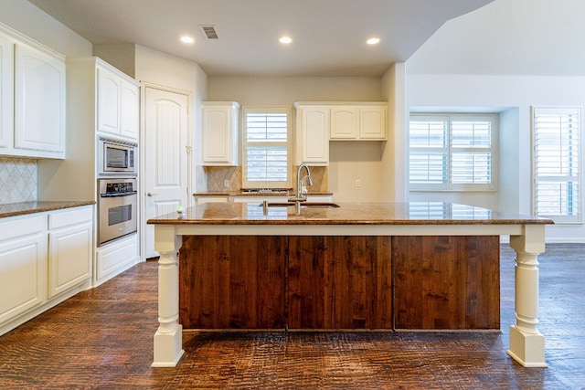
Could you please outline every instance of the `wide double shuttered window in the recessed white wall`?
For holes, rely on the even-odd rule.
[[[411,114],[412,191],[494,191],[496,114]]]

